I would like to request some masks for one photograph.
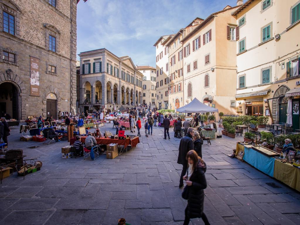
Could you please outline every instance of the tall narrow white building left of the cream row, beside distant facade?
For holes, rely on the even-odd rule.
[[[169,108],[169,53],[166,44],[172,37],[173,35],[161,36],[153,45],[156,48],[156,106],[158,109]]]

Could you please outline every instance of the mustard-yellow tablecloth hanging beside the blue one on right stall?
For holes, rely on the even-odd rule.
[[[275,160],[274,178],[300,191],[300,169]]]

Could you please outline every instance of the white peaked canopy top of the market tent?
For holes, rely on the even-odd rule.
[[[176,111],[179,113],[217,113],[218,109],[209,107],[194,98],[189,104],[178,108]]]

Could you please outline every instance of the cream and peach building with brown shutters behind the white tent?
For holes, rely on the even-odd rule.
[[[184,105],[197,98],[224,114],[235,114],[236,7],[226,6],[187,27],[183,45]],[[229,28],[230,33],[228,32]]]

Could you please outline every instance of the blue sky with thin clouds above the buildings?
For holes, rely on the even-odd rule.
[[[236,0],[88,0],[77,5],[77,54],[106,48],[128,55],[135,65],[155,67],[159,37],[177,33],[193,19],[205,19]],[[77,59],[79,59],[77,55]]]

